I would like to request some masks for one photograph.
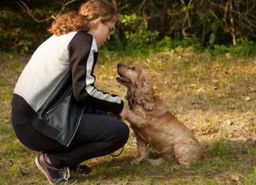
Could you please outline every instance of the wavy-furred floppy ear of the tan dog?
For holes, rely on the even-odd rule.
[[[153,84],[147,78],[143,78],[137,83],[137,91],[135,93],[134,100],[137,103],[141,103],[145,110],[154,109],[154,89]]]

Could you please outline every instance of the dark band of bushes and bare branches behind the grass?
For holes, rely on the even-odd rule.
[[[77,10],[84,0],[19,0],[0,3],[1,51],[31,54],[49,37],[60,13]],[[120,21],[106,50],[148,52],[193,46],[214,54],[255,54],[256,1],[112,0]],[[235,47],[236,46],[236,47]]]

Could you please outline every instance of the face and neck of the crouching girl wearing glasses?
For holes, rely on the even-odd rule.
[[[103,22],[100,18],[97,18],[93,23],[92,27],[88,31],[92,34],[97,41],[98,48],[102,46],[110,38],[110,34],[115,31],[115,22],[108,21]]]

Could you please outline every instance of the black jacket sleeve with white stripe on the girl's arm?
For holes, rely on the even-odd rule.
[[[124,101],[115,94],[104,93],[94,87],[93,69],[98,53],[93,36],[78,32],[68,44],[68,52],[76,100],[89,107],[119,114],[124,107]]]

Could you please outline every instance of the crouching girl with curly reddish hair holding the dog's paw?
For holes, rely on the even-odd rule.
[[[69,168],[120,149],[129,137],[124,101],[94,86],[98,49],[116,20],[106,0],[90,0],[78,12],[61,15],[15,86],[13,129],[22,144],[41,152],[35,163],[51,184],[75,182]]]

